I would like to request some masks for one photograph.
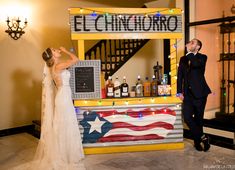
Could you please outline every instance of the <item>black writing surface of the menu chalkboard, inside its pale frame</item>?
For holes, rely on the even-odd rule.
[[[94,68],[75,68],[75,92],[94,92]]]

